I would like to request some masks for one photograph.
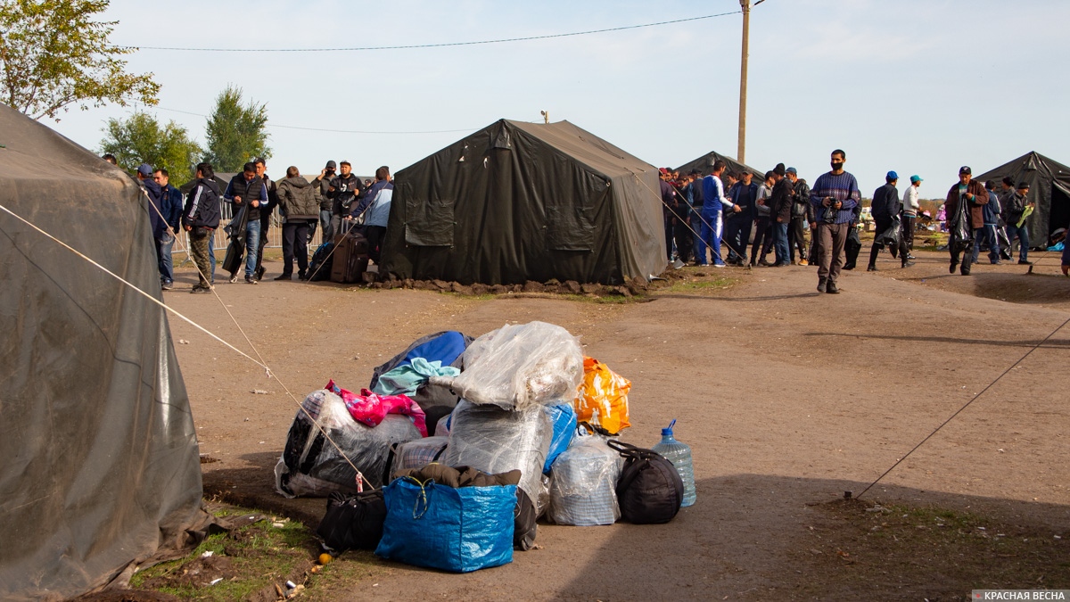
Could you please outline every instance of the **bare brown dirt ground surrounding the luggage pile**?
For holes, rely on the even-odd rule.
[[[819,295],[806,267],[686,268],[736,282],[627,304],[271,282],[277,262],[257,286],[217,290],[297,400],[330,378],[366,386],[373,366],[421,335],[537,319],[567,328],[631,379],[625,440],[652,446],[675,418],[693,450],[698,502],[668,525],[539,525],[538,550],[467,575],[376,560],[379,572],[337,599],[965,599],[982,586],[968,573],[882,568],[880,546],[831,548],[829,503],[860,494],[1010,368],[862,499],[981,514],[1065,553],[1070,326],[1022,357],[1070,318],[1070,279],[1057,275],[1056,254],[1034,257],[1031,275],[1006,265],[965,277],[948,274],[945,254],[918,255],[906,270],[885,254],[877,272],[844,272],[839,296]],[[248,350],[213,297],[186,292],[192,272],[178,276],[168,304]],[[294,402],[247,360],[170,323],[211,460],[205,495],[316,525],[323,500],[286,500],[273,487]],[[983,586],[1070,587],[1063,567],[1039,585]]]

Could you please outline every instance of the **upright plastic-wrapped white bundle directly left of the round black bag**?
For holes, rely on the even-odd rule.
[[[579,527],[615,523],[621,517],[616,481],[622,460],[606,445],[605,437],[574,438],[550,471],[549,518],[559,525]]]

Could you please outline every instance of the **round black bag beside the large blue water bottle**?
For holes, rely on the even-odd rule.
[[[676,467],[655,451],[612,439],[608,443],[625,458],[616,482],[621,517],[637,525],[672,521],[684,501]]]

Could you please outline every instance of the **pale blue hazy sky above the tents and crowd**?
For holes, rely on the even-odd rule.
[[[266,104],[275,177],[289,165],[316,175],[327,160],[348,160],[362,175],[380,165],[396,172],[499,119],[541,121],[541,110],[656,166],[710,150],[736,155],[738,0],[159,4],[112,0],[104,15],[119,21],[114,44],[142,47],[128,70],[152,72],[163,86],[147,110],[203,144],[202,116],[227,85],[240,87]],[[440,44],[733,12],[438,48],[144,48]],[[943,196],[962,165],[980,174],[1033,150],[1070,163],[1068,21],[1066,0],[765,0],[750,19],[746,162],[761,170],[782,162],[812,182],[842,148],[863,195],[896,170],[900,187],[920,175],[922,197]],[[133,110],[74,109],[43,121],[97,150],[106,120]]]

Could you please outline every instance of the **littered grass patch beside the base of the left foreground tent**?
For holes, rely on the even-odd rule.
[[[214,514],[228,517],[257,512],[223,507]],[[282,526],[275,527],[274,523]],[[207,552],[212,555],[202,557]],[[139,571],[131,578],[131,587],[183,600],[243,600],[264,589],[274,590],[276,584],[287,580],[303,584],[305,571],[311,568],[317,554],[316,538],[303,524],[263,520],[209,536],[185,558]]]

